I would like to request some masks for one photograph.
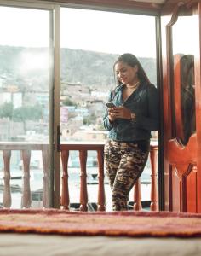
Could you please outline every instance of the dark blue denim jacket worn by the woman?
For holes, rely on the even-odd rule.
[[[153,84],[141,82],[139,87],[123,102],[123,84],[109,96],[109,102],[129,108],[135,119],[116,119],[110,122],[106,109],[103,125],[109,139],[122,142],[149,140],[151,131],[158,131],[158,90]]]

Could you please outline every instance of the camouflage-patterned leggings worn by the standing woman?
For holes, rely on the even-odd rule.
[[[128,210],[129,191],[146,166],[144,153],[136,143],[108,141],[104,148],[106,174],[112,189],[112,210]]]

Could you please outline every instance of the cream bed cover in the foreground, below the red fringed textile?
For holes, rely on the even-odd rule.
[[[2,256],[199,256],[200,238],[0,234]]]

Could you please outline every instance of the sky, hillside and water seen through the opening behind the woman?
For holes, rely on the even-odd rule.
[[[104,143],[106,131],[102,126],[102,116],[109,90],[115,86],[112,67],[118,55],[127,52],[136,55],[151,82],[157,85],[155,17],[61,8],[60,30],[61,143]],[[157,139],[157,133],[153,137]],[[75,152],[71,152],[69,156],[68,172],[70,183],[72,180],[70,191],[73,190],[70,201],[78,202],[80,170],[79,158],[75,155]],[[90,202],[97,201],[95,163],[96,152],[89,151],[87,171]],[[146,184],[147,180],[150,181],[150,168],[148,162],[141,176],[141,181],[145,182],[142,184],[143,201],[150,195],[147,193],[150,186]],[[105,189],[107,209],[110,209],[111,191],[107,178]],[[133,192],[130,199],[133,201]]]

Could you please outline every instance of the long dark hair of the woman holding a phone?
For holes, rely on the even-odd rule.
[[[128,64],[130,67],[135,67],[137,65],[137,67],[138,67],[138,72],[137,72],[138,78],[141,81],[146,81],[148,84],[150,84],[150,80],[147,78],[143,67],[141,67],[140,61],[138,61],[138,59],[135,57],[135,55],[125,53],[123,55],[118,56],[118,60],[114,62],[113,70],[115,68],[115,65],[118,62],[121,62],[121,61]],[[115,74],[115,72],[114,72],[114,74]],[[115,74],[115,78],[116,78],[116,74]],[[118,81],[118,85],[120,85],[120,84],[121,84],[120,81]]]

